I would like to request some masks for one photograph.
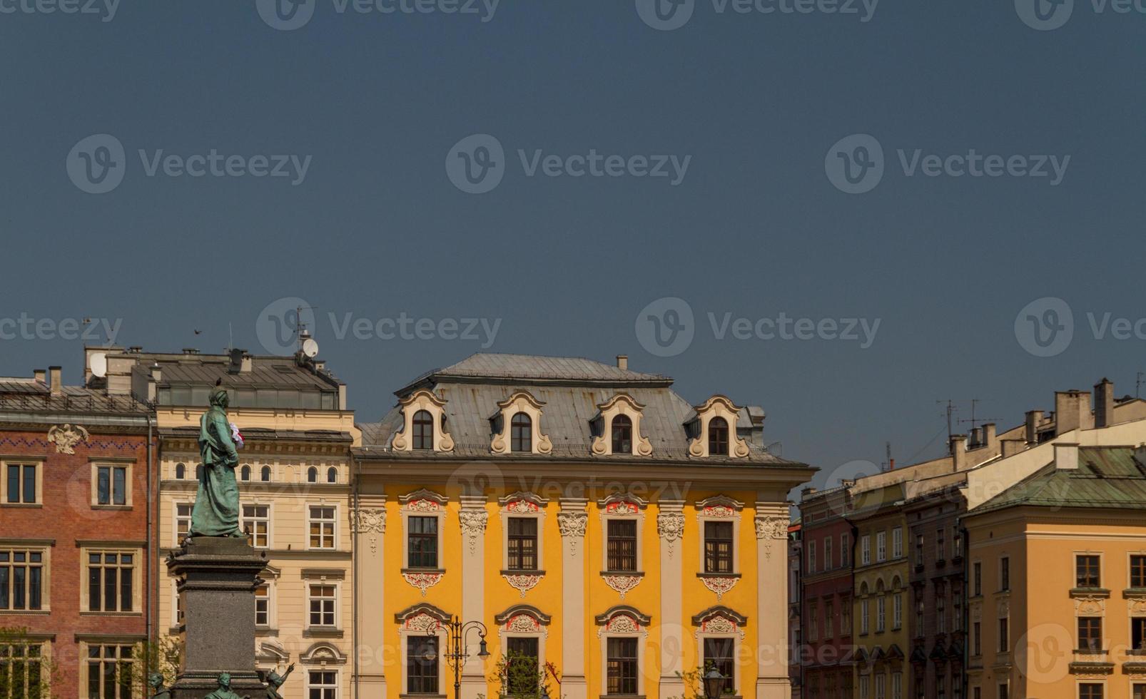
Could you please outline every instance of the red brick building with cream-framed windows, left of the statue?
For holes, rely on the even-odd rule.
[[[64,386],[58,367],[0,378],[0,627],[28,629],[0,671],[17,690],[45,657],[56,697],[141,696],[119,680],[155,602],[149,425],[146,406]]]

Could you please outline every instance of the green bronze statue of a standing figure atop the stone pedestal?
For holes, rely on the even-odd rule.
[[[189,536],[245,536],[238,527],[238,484],[235,481],[238,451],[227,419],[229,402],[227,390],[217,385],[211,393],[211,407],[199,418],[203,472],[191,510]]]

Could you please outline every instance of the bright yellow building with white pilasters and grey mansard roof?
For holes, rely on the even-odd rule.
[[[477,354],[361,425],[353,696],[455,696],[457,618],[492,653],[466,637],[466,699],[503,692],[510,652],[555,698],[681,696],[712,665],[729,697],[787,699],[787,493],[813,469],[767,451],[760,408],[672,384]]]

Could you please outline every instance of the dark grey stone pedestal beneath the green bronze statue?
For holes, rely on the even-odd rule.
[[[230,675],[240,697],[265,699],[254,670],[254,588],[267,565],[245,539],[196,536],[167,558],[183,607],[183,666],[172,699],[203,699]]]

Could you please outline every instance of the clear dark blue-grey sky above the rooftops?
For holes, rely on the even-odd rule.
[[[1076,0],[1065,25],[1036,31],[1011,2],[882,0],[862,22],[697,0],[684,26],[658,31],[634,0],[502,0],[487,22],[337,7],[316,0],[293,31],[250,0],[123,0],[110,22],[0,14],[0,317],[121,319],[121,345],[204,351],[227,345],[229,322],[235,345],[261,352],[260,309],[300,297],[368,421],[482,343],[338,339],[328,314],[502,319],[489,351],[628,353],[696,402],[763,405],[769,441],[825,472],[878,463],[887,440],[900,463],[940,454],[939,399],[960,401],[958,417],[983,399],[980,415],[1011,425],[1054,388],[1109,376],[1133,393],[1146,370],[1146,339],[1096,338],[1086,315],[1146,317],[1144,14]],[[105,194],[69,178],[93,134],[125,150]],[[447,176],[471,134],[504,148],[487,194]],[[865,194],[825,173],[851,134],[884,151]],[[141,149],[311,162],[298,184],[149,176]],[[518,151],[539,149],[690,160],[675,186],[527,176]],[[897,151],[916,149],[1069,160],[1057,184],[909,175]],[[635,332],[662,297],[696,314],[691,346],[666,358]],[[1014,329],[1042,297],[1074,316],[1050,358]],[[709,313],[880,325],[866,350],[717,339]],[[16,332],[0,372],[60,363],[77,380],[81,346]]]

